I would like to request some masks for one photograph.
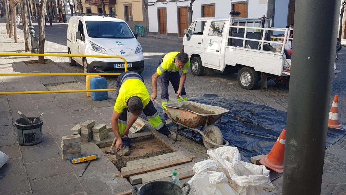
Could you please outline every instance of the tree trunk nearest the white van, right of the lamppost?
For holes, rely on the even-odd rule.
[[[46,15],[46,6],[47,6],[47,0],[41,0],[41,4],[39,7],[40,12],[40,18],[39,18],[39,26],[38,26],[38,32],[39,32],[39,42],[38,42],[38,53],[44,53],[44,43],[45,43],[45,15]],[[38,57],[38,63],[44,64],[44,56]]]

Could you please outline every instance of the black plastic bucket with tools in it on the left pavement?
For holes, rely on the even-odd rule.
[[[36,117],[28,117],[33,121]],[[18,134],[18,143],[21,146],[32,146],[42,142],[42,125],[43,120],[37,117],[37,122],[28,124],[23,118],[16,120],[16,128]]]

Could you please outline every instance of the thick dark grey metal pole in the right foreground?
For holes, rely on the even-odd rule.
[[[282,194],[320,194],[340,0],[295,2]]]

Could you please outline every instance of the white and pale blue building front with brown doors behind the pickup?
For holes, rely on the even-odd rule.
[[[292,0],[195,0],[192,19],[202,17],[229,17],[231,10],[239,11],[239,17],[273,19],[274,27],[286,27],[293,23]],[[188,28],[190,1],[148,0],[149,32],[169,36],[183,36]]]

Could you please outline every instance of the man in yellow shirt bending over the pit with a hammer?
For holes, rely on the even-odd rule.
[[[125,156],[130,154],[129,130],[142,111],[158,132],[171,138],[171,132],[163,124],[150,100],[142,76],[134,71],[121,73],[117,79],[116,88],[117,100],[111,119],[112,130],[116,137],[116,149],[121,148],[121,152]],[[127,111],[131,113],[128,123]],[[174,139],[173,136],[172,139]]]

